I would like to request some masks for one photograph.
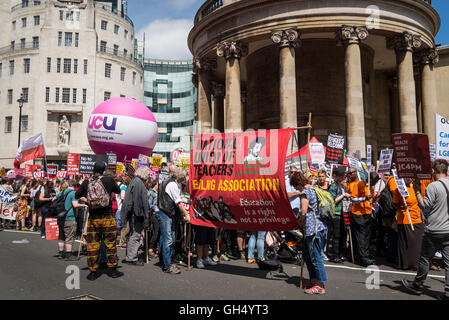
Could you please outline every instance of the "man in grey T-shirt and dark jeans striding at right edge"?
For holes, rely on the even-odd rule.
[[[418,273],[413,282],[402,280],[404,287],[417,295],[423,293],[424,281],[430,268],[430,260],[435,252],[440,251],[446,268],[445,293],[439,300],[449,300],[449,164],[446,160],[438,159],[432,165],[435,182],[426,190],[425,197],[421,194],[421,182],[416,180],[413,188],[418,199],[419,207],[424,213],[424,236],[422,240],[421,258]]]

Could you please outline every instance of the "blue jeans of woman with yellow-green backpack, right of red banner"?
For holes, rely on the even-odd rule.
[[[317,279],[318,282],[326,283],[327,275],[324,268],[321,252],[326,242],[327,230],[318,232],[314,236],[305,238],[303,258],[309,271],[310,279]]]

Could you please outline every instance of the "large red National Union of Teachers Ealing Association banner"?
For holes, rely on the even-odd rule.
[[[284,163],[293,129],[195,136],[191,223],[248,231],[298,228]]]

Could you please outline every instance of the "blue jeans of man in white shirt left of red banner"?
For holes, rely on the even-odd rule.
[[[163,269],[168,270],[172,266],[172,259],[174,254],[175,244],[175,224],[173,218],[167,216],[163,211],[156,212],[156,217],[159,220],[160,226],[160,241],[159,241],[159,257],[162,254]]]

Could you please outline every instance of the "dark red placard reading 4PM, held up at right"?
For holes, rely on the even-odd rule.
[[[422,133],[392,135],[399,178],[432,179],[429,137]]]

